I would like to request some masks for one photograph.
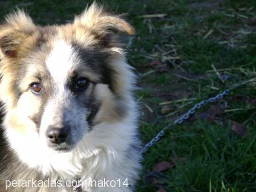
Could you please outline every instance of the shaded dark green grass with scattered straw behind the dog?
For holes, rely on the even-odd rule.
[[[66,23],[87,3],[71,1],[0,2],[4,15],[18,6],[41,25]],[[165,125],[196,102],[256,76],[256,2],[244,1],[99,1],[127,18],[136,35],[127,49],[129,62],[139,75],[141,87],[136,97],[141,109],[140,132],[143,143],[150,141]],[[164,17],[141,17],[166,14]],[[160,67],[148,63],[158,61]],[[212,65],[219,72],[214,71]],[[147,72],[151,73],[147,74]],[[222,79],[221,79],[221,78]],[[255,191],[256,190],[256,83],[231,90],[225,98],[212,103],[225,112],[213,121],[198,115],[173,126],[145,154],[141,180],[136,191]],[[160,102],[196,98],[167,105],[165,117]],[[246,126],[244,135],[231,129],[232,121]],[[172,163],[148,181],[154,164]]]

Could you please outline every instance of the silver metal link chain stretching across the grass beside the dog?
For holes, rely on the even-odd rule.
[[[192,108],[190,108],[184,115],[180,116],[178,119],[176,119],[174,122],[168,124],[165,126],[150,142],[148,142],[140,151],[141,154],[145,153],[149,147],[151,147],[153,144],[155,144],[164,134],[164,131],[167,130],[171,125],[180,124],[185,119],[187,119],[190,115],[194,114],[197,109],[201,108],[203,105],[214,102],[216,100],[222,99],[225,95],[228,95],[229,90],[225,90],[222,93],[216,95],[215,97],[211,97],[207,100],[202,100],[199,103],[196,103]]]

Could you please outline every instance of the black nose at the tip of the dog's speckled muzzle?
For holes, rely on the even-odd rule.
[[[60,144],[67,140],[69,127],[51,127],[47,130],[47,138],[51,143]]]

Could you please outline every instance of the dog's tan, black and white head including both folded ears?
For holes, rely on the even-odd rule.
[[[134,29],[95,4],[60,26],[36,26],[20,10],[8,15],[0,26],[6,129],[69,151],[97,123],[123,118],[133,75],[121,32]]]

